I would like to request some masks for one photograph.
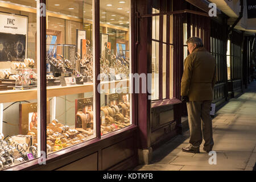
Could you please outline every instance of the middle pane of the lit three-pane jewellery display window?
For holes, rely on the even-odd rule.
[[[92,3],[47,1],[47,154],[96,137]]]

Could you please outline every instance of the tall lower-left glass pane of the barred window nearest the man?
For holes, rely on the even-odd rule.
[[[151,100],[159,99],[159,43],[152,41]]]

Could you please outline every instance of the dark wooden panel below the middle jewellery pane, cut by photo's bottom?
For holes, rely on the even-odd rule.
[[[79,159],[71,164],[57,169],[56,171],[97,171],[98,170],[98,153],[94,153]]]

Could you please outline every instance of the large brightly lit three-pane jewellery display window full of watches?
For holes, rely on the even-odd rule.
[[[44,101],[37,101],[42,89],[37,83],[43,80],[37,68],[39,55],[43,55],[36,41],[40,32],[36,2],[1,3],[0,19],[8,18],[10,24],[15,19],[22,26],[16,32],[15,28],[0,32],[4,50],[0,51],[0,170],[38,158],[41,143],[47,143],[45,151],[51,155],[131,125],[131,2],[112,1],[112,7],[100,2],[101,37],[97,43],[93,42],[93,29],[98,26],[93,23],[93,3],[46,3],[47,114],[42,121],[46,128],[39,122],[39,106]],[[22,11],[20,5],[26,9]],[[11,26],[14,24],[7,27]],[[96,46],[101,54],[98,78]],[[96,79],[101,88],[97,90],[101,93],[99,107]],[[96,108],[100,108],[100,123],[96,123]],[[101,133],[96,133],[96,126]],[[40,138],[42,131],[46,138]]]

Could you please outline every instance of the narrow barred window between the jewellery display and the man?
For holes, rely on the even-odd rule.
[[[152,14],[171,11],[166,1],[153,1]],[[172,15],[152,16],[151,100],[172,99]]]

